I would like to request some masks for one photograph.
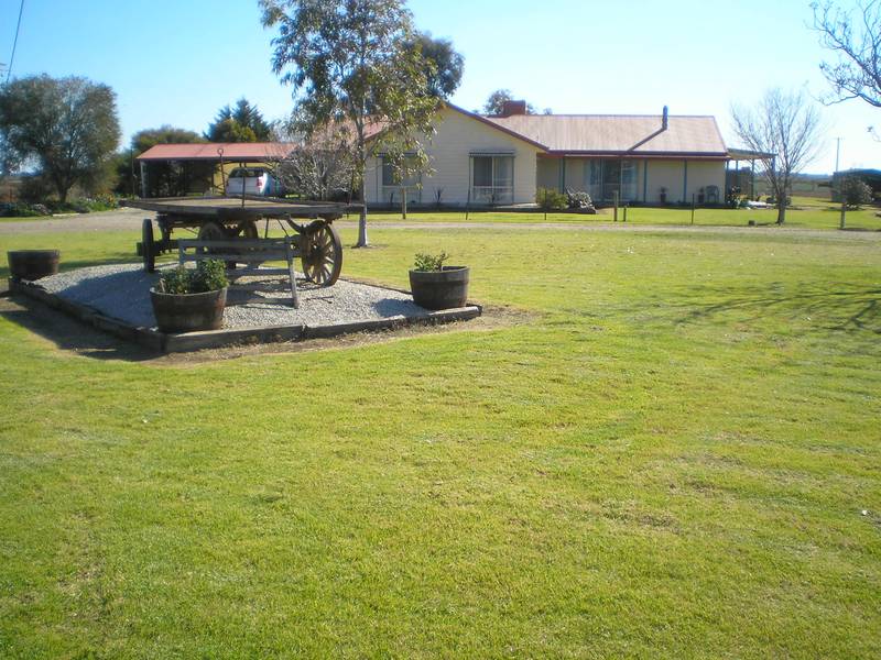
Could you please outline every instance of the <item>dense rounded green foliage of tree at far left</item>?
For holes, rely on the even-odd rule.
[[[81,77],[18,78],[0,87],[4,163],[35,164],[63,202],[75,185],[97,191],[119,142],[116,95]]]

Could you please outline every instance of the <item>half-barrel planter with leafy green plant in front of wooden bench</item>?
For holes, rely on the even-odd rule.
[[[224,322],[229,280],[219,260],[166,271],[150,289],[153,315],[162,332],[217,330]]]

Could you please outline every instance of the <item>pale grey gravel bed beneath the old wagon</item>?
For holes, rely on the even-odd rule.
[[[150,287],[157,278],[157,274],[144,273],[140,264],[113,264],[67,271],[44,277],[39,284],[51,294],[93,307],[107,317],[153,328],[156,320]],[[409,294],[342,279],[328,288],[298,279],[297,290],[300,309],[294,309],[286,277],[242,277],[227,294],[224,327],[315,327],[427,315]]]

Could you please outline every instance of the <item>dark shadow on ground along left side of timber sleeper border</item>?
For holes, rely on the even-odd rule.
[[[0,299],[0,318],[42,337],[58,349],[86,358],[143,362],[157,356],[155,352],[96,330],[21,296]]]

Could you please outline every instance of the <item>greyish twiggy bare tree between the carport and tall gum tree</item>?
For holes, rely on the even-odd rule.
[[[295,145],[275,166],[275,176],[285,188],[318,201],[351,196],[357,152],[350,131],[328,127],[305,135],[289,123],[276,125],[273,134],[275,141]]]

